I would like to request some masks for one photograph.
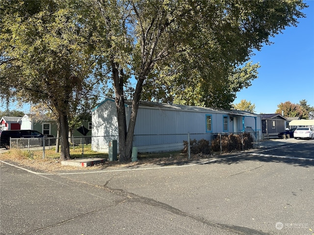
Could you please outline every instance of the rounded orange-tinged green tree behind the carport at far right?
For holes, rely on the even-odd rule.
[[[301,100],[300,104],[293,104],[290,101],[280,103],[276,110],[277,114],[281,114],[284,111],[285,117],[298,117],[301,119],[309,119],[313,117],[314,107],[310,107],[306,100]]]

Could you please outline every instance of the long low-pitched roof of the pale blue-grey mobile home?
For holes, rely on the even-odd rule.
[[[104,99],[99,105],[97,105],[94,109],[96,110],[106,101],[114,102],[113,98],[106,98]],[[126,100],[125,104],[127,106],[131,106],[132,102],[130,100]],[[225,109],[215,109],[215,108],[208,108],[208,107],[200,107],[200,106],[189,106],[189,105],[180,105],[180,104],[166,104],[166,103],[157,103],[152,101],[141,101],[139,104],[140,108],[155,108],[155,109],[163,109],[163,110],[177,110],[177,111],[189,111],[189,112],[206,112],[206,113],[221,113],[221,114],[229,114],[235,116],[251,116],[257,117],[259,115],[248,112],[248,111],[241,111],[241,110],[225,110]]]

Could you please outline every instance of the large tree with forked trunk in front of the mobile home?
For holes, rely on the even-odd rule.
[[[301,0],[95,0],[95,5],[107,32],[101,47],[115,90],[121,161],[131,158],[142,94],[158,88],[160,75],[176,84],[165,95],[178,97],[185,92],[188,98],[203,98],[203,104],[210,99],[229,102],[230,91],[241,85],[232,84],[228,76],[244,66],[253,49],[269,44],[269,37],[295,26],[305,7]],[[127,128],[124,89],[130,76],[136,87]],[[195,89],[199,94],[193,93]]]

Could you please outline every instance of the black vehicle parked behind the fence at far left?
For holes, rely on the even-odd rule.
[[[0,131],[0,148],[10,147],[10,138],[44,138],[54,137],[52,135],[44,135],[34,130],[8,130]]]

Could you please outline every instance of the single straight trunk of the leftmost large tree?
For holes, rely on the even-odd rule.
[[[66,114],[59,113],[60,122],[60,136],[61,136],[61,152],[60,161],[70,159],[70,146],[69,146],[69,124],[68,117]]]

